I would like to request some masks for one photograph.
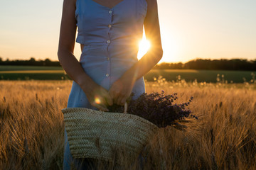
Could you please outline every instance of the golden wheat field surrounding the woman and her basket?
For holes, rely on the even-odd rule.
[[[0,81],[0,169],[62,169],[72,81]],[[256,169],[256,84],[146,82],[188,101],[196,119],[160,129],[144,169]],[[99,166],[102,166],[99,164]],[[127,169],[137,169],[137,162]],[[109,166],[108,169],[113,169]]]

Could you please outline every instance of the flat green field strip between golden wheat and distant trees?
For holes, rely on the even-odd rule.
[[[193,70],[193,69],[153,69],[144,78],[155,81],[160,76],[166,81],[198,81],[198,82],[255,82],[256,72],[222,71],[222,70]],[[218,76],[219,75],[219,76]],[[0,66],[0,80],[60,80],[70,79],[62,67],[40,66]]]

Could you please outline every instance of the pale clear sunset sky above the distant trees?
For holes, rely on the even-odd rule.
[[[0,57],[57,61],[62,7],[63,0],[0,0]],[[158,0],[160,62],[256,60],[255,8],[255,0]],[[78,60],[80,53],[76,43]]]

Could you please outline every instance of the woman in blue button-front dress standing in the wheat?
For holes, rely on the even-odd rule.
[[[151,48],[138,61],[143,25]],[[77,27],[79,62],[73,55]],[[124,105],[132,92],[137,98],[145,91],[144,74],[162,54],[156,0],[64,0],[58,60],[73,79],[68,108],[108,111],[113,103]],[[73,160],[65,131],[64,169]]]

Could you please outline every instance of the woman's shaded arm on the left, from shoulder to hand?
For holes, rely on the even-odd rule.
[[[112,99],[106,89],[96,84],[82,69],[80,62],[73,55],[75,46],[76,19],[75,1],[64,0],[63,14],[60,25],[60,40],[58,46],[58,60],[67,74],[85,92],[88,101],[102,111],[107,111],[107,103],[112,105]],[[95,102],[100,99],[100,103]]]

